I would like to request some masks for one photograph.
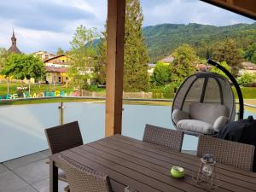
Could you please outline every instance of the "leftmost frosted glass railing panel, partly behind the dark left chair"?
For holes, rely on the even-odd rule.
[[[47,149],[44,129],[60,125],[59,106],[0,105],[0,162]]]

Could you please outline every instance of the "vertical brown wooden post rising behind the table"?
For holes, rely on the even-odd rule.
[[[108,0],[105,136],[121,134],[125,44],[125,0]]]

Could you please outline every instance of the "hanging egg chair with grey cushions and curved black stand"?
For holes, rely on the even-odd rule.
[[[208,63],[224,71],[241,96],[236,79],[218,63],[211,60]],[[242,96],[239,100],[242,102],[239,119],[242,119]],[[230,81],[218,73],[201,72],[189,76],[178,88],[172,102],[173,125],[189,135],[215,135],[235,116],[236,99]]]

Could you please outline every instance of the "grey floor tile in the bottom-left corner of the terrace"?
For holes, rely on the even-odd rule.
[[[14,172],[7,170],[0,174],[0,192],[14,192],[27,186]]]

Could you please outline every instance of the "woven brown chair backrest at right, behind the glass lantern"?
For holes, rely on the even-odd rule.
[[[198,141],[197,156],[213,154],[219,163],[252,171],[254,148],[253,145],[201,135]]]

